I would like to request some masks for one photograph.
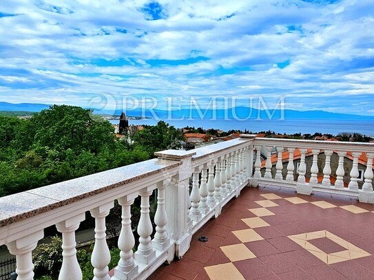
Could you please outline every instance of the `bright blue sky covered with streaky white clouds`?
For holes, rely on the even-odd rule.
[[[373,0],[1,0],[0,101],[374,116]]]

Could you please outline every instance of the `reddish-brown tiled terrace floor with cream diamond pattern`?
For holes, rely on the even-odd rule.
[[[373,204],[260,186],[244,189],[194,235],[183,259],[148,279],[372,280],[373,264]]]

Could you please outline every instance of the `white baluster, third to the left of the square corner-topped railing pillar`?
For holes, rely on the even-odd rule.
[[[114,279],[132,279],[138,273],[138,266],[134,262],[132,248],[135,246],[134,233],[131,226],[131,206],[138,196],[125,196],[118,199],[122,206],[121,233],[118,237],[118,248],[121,250],[118,266],[114,269]]]

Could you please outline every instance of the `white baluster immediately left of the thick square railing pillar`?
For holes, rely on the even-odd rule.
[[[163,180],[156,184],[157,187],[157,209],[154,215],[154,223],[156,224],[156,233],[152,240],[152,245],[157,250],[165,250],[170,245],[170,239],[166,232],[167,213],[165,208],[166,188],[170,180]]]

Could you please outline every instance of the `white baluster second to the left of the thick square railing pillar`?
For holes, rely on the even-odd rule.
[[[135,252],[135,260],[149,264],[156,257],[156,251],[151,244],[153,228],[149,217],[149,196],[152,195],[152,189],[143,189],[139,191],[139,195],[141,195],[141,219],[138,224],[139,246]]]

